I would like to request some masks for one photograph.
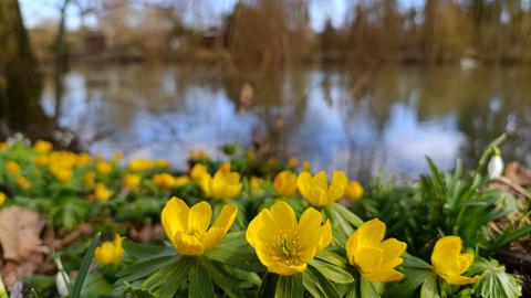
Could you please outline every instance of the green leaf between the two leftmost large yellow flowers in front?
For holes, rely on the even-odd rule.
[[[258,259],[254,249],[249,246],[244,237],[246,232],[232,232],[205,256],[222,264],[235,266],[249,272],[264,272],[266,267]]]

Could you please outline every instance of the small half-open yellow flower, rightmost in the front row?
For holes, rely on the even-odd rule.
[[[445,236],[437,241],[431,253],[431,265],[436,274],[451,285],[467,285],[479,280],[479,276],[462,276],[472,264],[473,255],[461,254],[459,236]]]

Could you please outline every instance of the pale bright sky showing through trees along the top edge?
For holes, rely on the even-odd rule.
[[[22,10],[24,23],[28,28],[32,28],[45,19],[59,19],[59,8],[63,0],[19,0]],[[229,13],[238,0],[212,0],[209,1],[205,8],[198,9],[195,12],[185,15],[185,22],[192,25],[217,25],[221,17]],[[335,26],[341,24],[346,19],[346,11],[350,0],[313,0],[310,1],[310,17],[312,28],[315,31],[321,31],[327,19],[332,20]],[[399,6],[412,7],[420,3],[421,0],[399,0]],[[76,29],[80,25],[80,19],[76,17],[77,12],[72,7],[67,11],[66,26],[69,29]],[[214,15],[212,15],[214,14]],[[91,20],[88,20],[91,22]],[[93,20],[95,23],[95,21]]]

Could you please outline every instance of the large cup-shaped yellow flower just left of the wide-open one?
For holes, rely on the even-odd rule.
[[[164,206],[160,221],[166,235],[180,254],[200,256],[218,245],[232,226],[237,213],[236,204],[227,204],[210,226],[210,204],[202,201],[190,209],[185,201],[174,196]]]

